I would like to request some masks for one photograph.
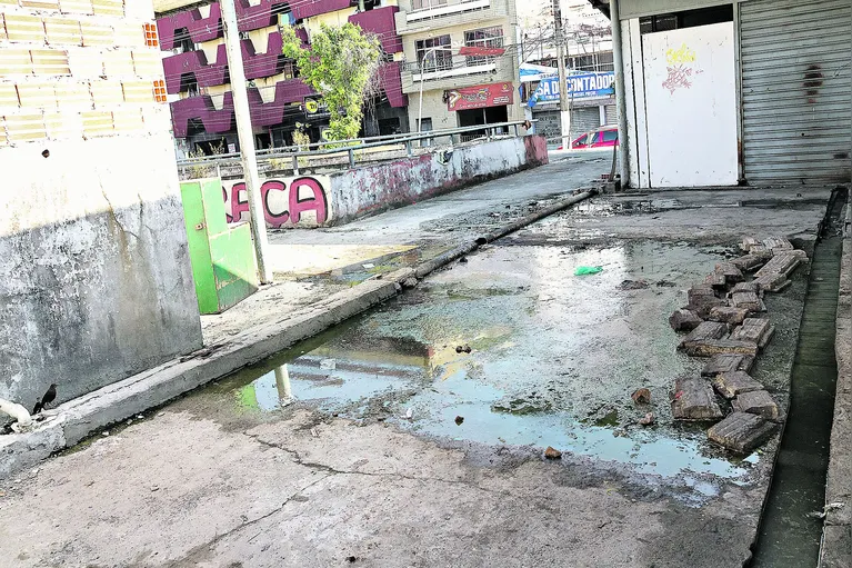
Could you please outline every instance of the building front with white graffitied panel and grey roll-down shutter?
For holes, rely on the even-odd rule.
[[[631,187],[850,181],[852,0],[617,8]]]

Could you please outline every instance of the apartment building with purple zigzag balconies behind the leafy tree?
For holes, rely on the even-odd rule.
[[[305,47],[321,23],[352,22],[375,33],[384,51],[384,63],[379,71],[381,92],[374,100],[365,101],[364,134],[408,131],[395,1],[235,0],[235,6],[259,149],[292,145],[297,124],[307,127],[312,141],[321,140],[328,126],[321,96],[299,78],[294,62],[281,53],[283,26],[294,26]],[[178,155],[237,151],[219,2],[199,6],[187,0],[161,0],[156,2],[156,9]]]

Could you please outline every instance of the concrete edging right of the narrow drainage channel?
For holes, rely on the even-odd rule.
[[[846,207],[843,252],[840,263],[836,338],[838,390],[834,400],[834,423],[831,430],[831,454],[825,484],[825,505],[843,504],[825,517],[820,567],[852,567],[852,208]]]

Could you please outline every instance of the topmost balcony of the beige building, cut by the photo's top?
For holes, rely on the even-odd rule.
[[[400,36],[453,26],[479,24],[509,16],[507,0],[449,0],[445,4],[397,13]]]

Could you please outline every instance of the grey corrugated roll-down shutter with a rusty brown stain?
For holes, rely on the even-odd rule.
[[[740,4],[749,182],[852,177],[852,1]]]

